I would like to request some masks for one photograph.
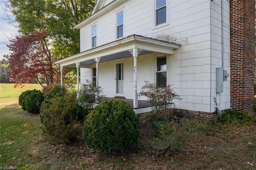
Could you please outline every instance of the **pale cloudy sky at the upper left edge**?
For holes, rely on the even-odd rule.
[[[6,44],[10,44],[9,38],[12,38],[12,34],[15,34],[17,31],[14,28],[13,24],[7,24],[7,20],[4,20],[3,18],[6,18],[4,14],[4,1],[6,0],[0,0],[0,60],[2,60],[5,54],[9,54],[9,48],[6,47]]]

